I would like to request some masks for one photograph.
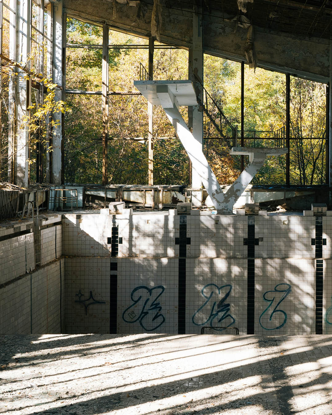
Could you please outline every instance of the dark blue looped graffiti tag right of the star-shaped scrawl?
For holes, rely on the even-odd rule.
[[[163,286],[155,286],[154,288],[138,286],[134,288],[130,294],[130,298],[134,303],[129,305],[122,313],[122,320],[126,323],[138,321],[147,332],[156,330],[165,322],[165,317],[161,314],[162,307],[157,302],[164,291],[165,288]],[[154,297],[153,293],[157,295]]]

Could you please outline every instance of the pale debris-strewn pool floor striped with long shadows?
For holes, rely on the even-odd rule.
[[[0,335],[0,413],[332,414],[332,336]]]

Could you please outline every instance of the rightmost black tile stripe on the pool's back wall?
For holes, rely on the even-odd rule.
[[[325,242],[325,241],[324,241]],[[326,244],[326,242],[325,242]],[[316,216],[315,258],[316,258],[316,334],[323,334],[323,218]],[[320,259],[318,259],[320,258]]]

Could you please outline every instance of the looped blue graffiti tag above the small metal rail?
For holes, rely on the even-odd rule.
[[[227,288],[227,293],[217,303],[218,297],[221,295],[223,288]],[[230,305],[229,303],[225,304],[225,301],[229,297],[229,294],[231,291],[232,291],[232,286],[230,284],[226,284],[221,287],[218,287],[216,284],[207,284],[206,286],[204,286],[201,293],[203,297],[206,298],[206,301],[193,314],[193,317],[191,319],[193,324],[196,326],[203,326],[207,323],[210,323],[210,327],[217,327],[218,323],[222,322],[223,320],[226,320],[227,318],[230,318],[231,322],[226,327],[233,325],[235,323],[235,319],[231,314],[229,314]],[[215,301],[213,301],[213,299],[215,299]],[[209,305],[210,305],[210,310],[207,310]],[[210,315],[209,315],[209,311],[210,311]],[[219,331],[222,331],[222,330],[225,330],[225,328],[219,329]]]

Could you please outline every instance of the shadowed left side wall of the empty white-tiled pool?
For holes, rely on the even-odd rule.
[[[0,333],[64,330],[61,215],[41,220],[40,227],[41,264],[37,269],[39,247],[32,220],[0,227]]]

